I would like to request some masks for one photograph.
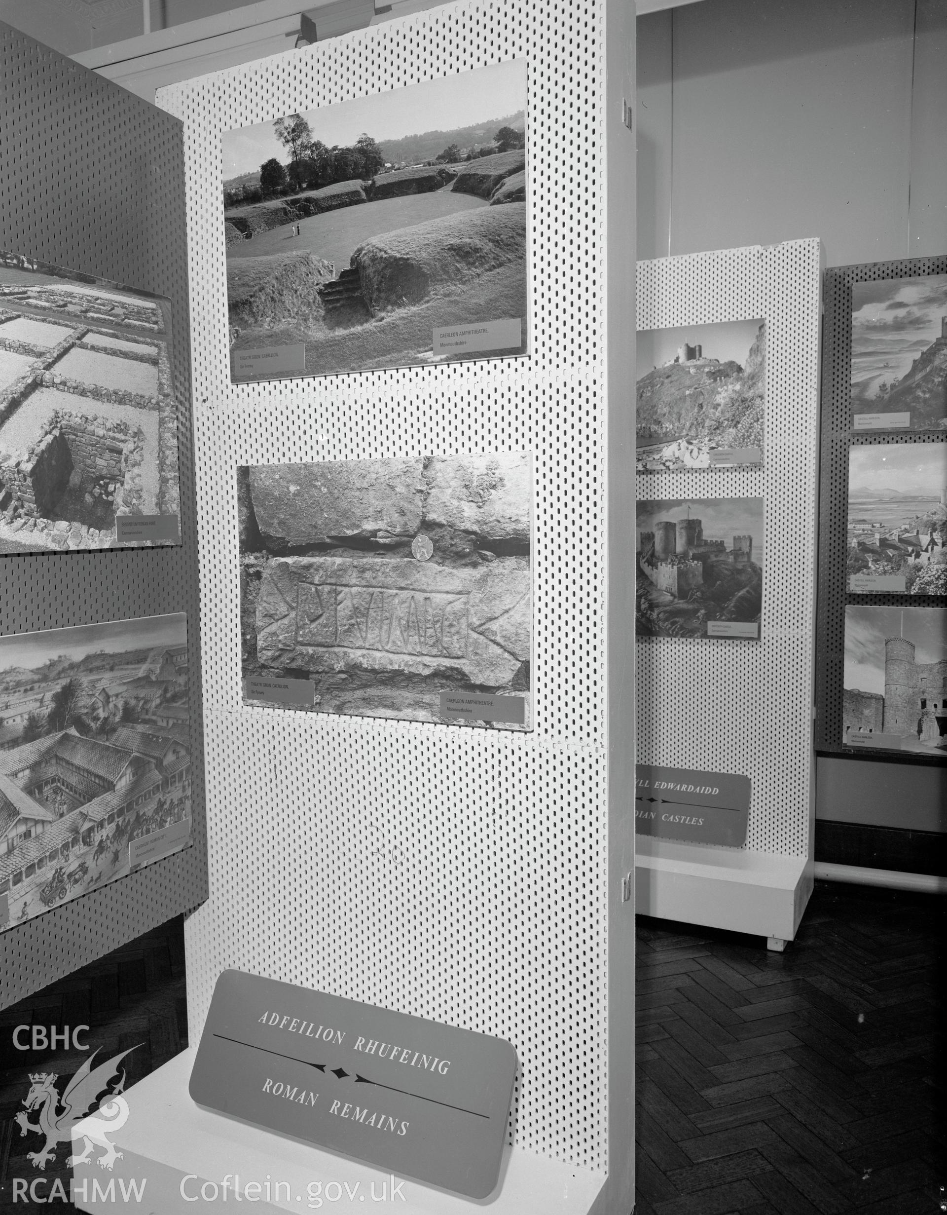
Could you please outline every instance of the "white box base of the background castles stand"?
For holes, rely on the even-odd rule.
[[[749,848],[636,837],[635,910],[660,920],[793,940],[812,861]]]

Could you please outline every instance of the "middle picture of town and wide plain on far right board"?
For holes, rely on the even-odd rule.
[[[852,594],[947,595],[947,442],[849,450]]]

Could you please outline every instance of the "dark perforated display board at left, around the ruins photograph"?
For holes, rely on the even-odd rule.
[[[168,296],[182,533],[194,527],[181,124],[0,24],[0,248]],[[206,892],[193,544],[0,556],[0,627],[27,633],[187,612],[193,848],[10,928],[0,1005],[193,908]]]

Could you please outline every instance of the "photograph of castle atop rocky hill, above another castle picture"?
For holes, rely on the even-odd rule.
[[[760,464],[765,323],[641,330],[636,395],[639,473]]]

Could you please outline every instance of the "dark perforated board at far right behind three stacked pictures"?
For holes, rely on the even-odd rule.
[[[820,486],[818,558],[818,663],[816,747],[820,753],[858,759],[940,765],[937,755],[918,750],[898,752],[869,746],[843,745],[843,694],[845,667],[845,606],[940,608],[947,600],[934,595],[851,594],[847,587],[846,546],[849,515],[849,450],[879,443],[945,443],[947,431],[854,431],[851,409],[851,304],[852,284],[872,279],[911,279],[947,273],[947,256],[908,258],[826,271],[822,368],[822,453]]]

